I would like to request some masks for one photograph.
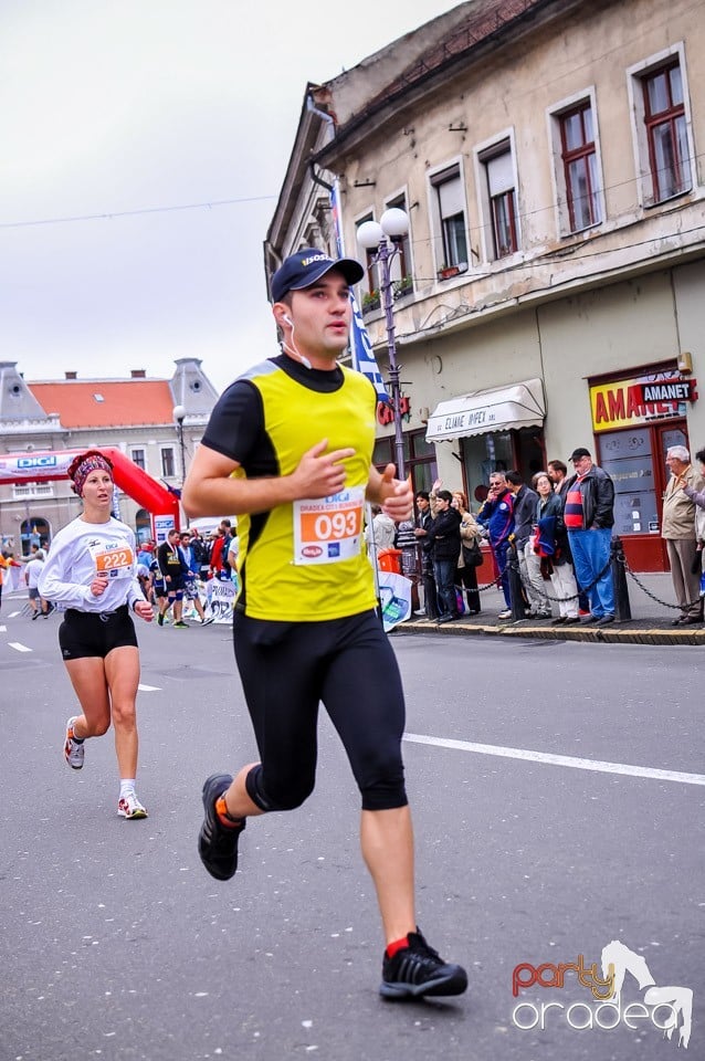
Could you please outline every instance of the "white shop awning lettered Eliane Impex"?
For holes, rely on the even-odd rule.
[[[545,417],[541,380],[525,379],[440,402],[429,418],[425,438],[427,442],[443,442],[509,428],[540,427]]]

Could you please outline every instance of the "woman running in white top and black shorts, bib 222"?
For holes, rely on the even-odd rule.
[[[64,757],[83,767],[84,742],[115,727],[120,776],[117,812],[146,818],[135,794],[139,651],[130,611],[151,621],[136,577],[135,535],[113,518],[113,464],[97,450],[69,468],[83,514],[54,537],[39,580],[42,597],[66,608],[59,644],[83,714],[66,723]]]

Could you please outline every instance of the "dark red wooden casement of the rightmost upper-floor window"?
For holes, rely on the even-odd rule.
[[[642,88],[653,198],[662,202],[692,185],[680,64],[648,74]]]

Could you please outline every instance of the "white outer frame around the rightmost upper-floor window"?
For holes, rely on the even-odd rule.
[[[677,191],[666,199],[656,199],[651,175],[651,159],[649,155],[649,136],[645,126],[644,86],[646,74],[663,66],[669,60],[677,56],[683,84],[683,113],[685,116],[685,135],[691,162],[691,187]],[[650,55],[649,59],[627,67],[627,92],[629,94],[629,111],[632,124],[632,146],[634,150],[634,172],[636,174],[636,195],[642,209],[660,207],[671,199],[687,195],[697,188],[697,159],[695,157],[695,140],[693,138],[693,118],[691,114],[691,92],[688,87],[687,67],[685,64],[685,44],[678,41],[662,52]]]

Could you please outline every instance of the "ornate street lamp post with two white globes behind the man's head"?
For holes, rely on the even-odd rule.
[[[387,351],[389,355],[389,382],[391,406],[394,418],[394,449],[397,452],[397,475],[406,477],[404,440],[401,428],[401,387],[399,366],[397,365],[397,338],[394,334],[394,296],[391,281],[391,263],[401,253],[401,241],[409,231],[409,218],[403,210],[392,207],[386,210],[379,221],[364,221],[357,230],[360,246],[375,251],[372,264],[380,267],[380,292],[387,324]],[[375,250],[376,249],[376,250]]]

